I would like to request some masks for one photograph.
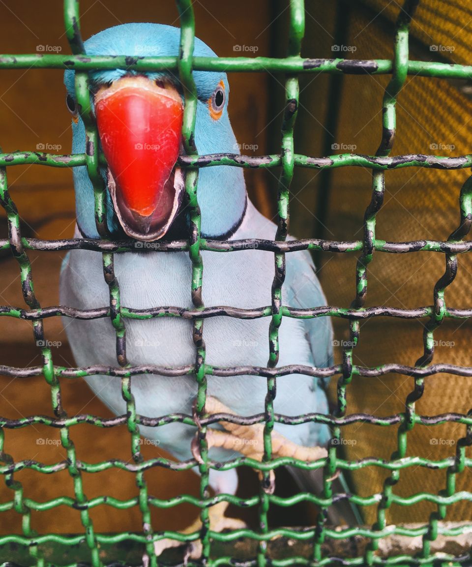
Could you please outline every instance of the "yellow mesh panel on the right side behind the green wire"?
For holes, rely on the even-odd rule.
[[[366,2],[376,7],[380,2]],[[383,7],[382,3],[382,7]],[[382,16],[395,19],[399,7],[392,2],[382,15],[372,21],[372,15],[355,10],[351,20],[347,45],[356,46],[356,59],[391,58],[393,35],[385,33]],[[457,49],[453,56],[458,62],[467,62],[469,46],[464,30],[470,9],[452,3],[435,2],[420,5],[412,34],[426,44],[449,45],[447,38],[456,34]],[[447,17],[446,17],[447,16]],[[470,19],[470,18],[469,18]],[[392,28],[392,26],[390,26]],[[462,33],[462,35],[461,35]],[[431,35],[431,38],[428,37]],[[463,43],[460,43],[462,38]],[[449,43],[448,43],[449,42]],[[434,54],[432,54],[434,56]],[[458,56],[461,59],[458,59]],[[421,54],[410,50],[410,58]],[[469,57],[470,62],[470,57]],[[359,154],[373,154],[379,146],[382,133],[382,95],[388,77],[345,77],[342,104],[339,108],[339,143],[354,144]],[[409,77],[398,96],[397,135],[392,155],[435,154],[462,155],[470,151],[472,102],[448,81]],[[321,134],[320,134],[321,135]],[[348,150],[347,150],[348,151]],[[332,153],[338,153],[333,150]],[[456,229],[460,213],[458,197],[468,171],[427,170],[405,168],[387,171],[385,200],[377,214],[377,238],[403,241],[414,239],[445,240]],[[334,170],[330,191],[328,230],[326,238],[359,240],[363,237],[363,215],[371,199],[371,171],[361,168]],[[322,260],[322,284],[331,305],[347,307],[355,297],[356,254],[335,254]],[[418,252],[393,255],[377,252],[368,268],[368,293],[365,307],[396,306],[419,307],[433,303],[433,286],[444,273],[444,255]],[[456,280],[447,289],[445,300],[449,307],[470,307],[470,277],[472,257],[459,258]],[[355,362],[376,366],[388,362],[414,365],[423,353],[422,321],[398,321],[376,318],[361,324],[360,340],[355,348]],[[439,344],[433,362],[470,365],[470,324],[447,321],[435,333]],[[348,324],[335,320],[335,334],[348,340]],[[453,344],[448,344],[453,343]],[[336,360],[341,362],[342,349],[336,349]],[[335,384],[333,397],[335,399]],[[380,378],[355,378],[348,386],[348,414],[365,412],[389,416],[404,411],[407,394],[413,390],[413,378],[390,374]],[[472,391],[467,378],[441,374],[426,378],[423,397],[416,404],[417,412],[437,415],[445,412],[466,413],[472,407]],[[380,456],[389,459],[396,450],[398,426],[381,428],[372,425],[353,425],[343,428],[343,435],[351,439],[346,445],[348,459]],[[416,425],[408,434],[407,455],[441,459],[455,454],[457,440],[465,435],[462,425]],[[469,455],[467,449],[467,455]],[[352,476],[356,493],[367,496],[381,492],[388,471],[366,467]],[[457,476],[456,490],[470,487],[472,475],[465,471]],[[423,467],[403,469],[393,492],[412,496],[421,492],[437,493],[445,488],[445,471]],[[427,521],[435,506],[426,501],[413,506],[393,505],[387,513],[389,522]],[[365,510],[367,522],[376,518],[376,506]],[[448,520],[472,517],[467,501],[448,508]]]

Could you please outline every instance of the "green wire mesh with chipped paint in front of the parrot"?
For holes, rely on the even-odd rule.
[[[460,225],[451,234],[447,242],[433,240],[418,240],[415,242],[385,242],[376,238],[376,215],[380,211],[385,189],[385,170],[398,169],[402,167],[431,167],[445,170],[472,167],[472,156],[459,157],[437,157],[431,155],[399,155],[390,156],[392,151],[395,128],[396,128],[396,100],[408,74],[424,77],[442,78],[471,78],[472,66],[449,65],[437,62],[423,62],[409,60],[409,27],[411,18],[418,1],[407,0],[399,9],[396,25],[396,37],[394,43],[394,58],[390,60],[358,61],[345,60],[341,58],[333,60],[305,59],[300,57],[301,41],[304,36],[304,2],[303,0],[290,1],[290,33],[287,57],[281,59],[257,57],[230,57],[209,58],[193,57],[194,44],[194,14],[191,0],[177,0],[178,12],[180,14],[181,39],[180,54],[178,57],[101,57],[86,56],[80,36],[79,5],[77,0],[65,0],[64,15],[67,39],[72,50],[72,55],[61,54],[21,54],[0,56],[1,69],[26,69],[26,68],[55,68],[74,69],[76,71],[75,86],[78,98],[80,115],[84,121],[87,135],[87,153],[75,155],[52,155],[29,151],[16,151],[11,154],[0,154],[0,200],[7,214],[8,239],[0,240],[0,249],[10,249],[12,255],[18,261],[22,291],[27,308],[0,306],[0,315],[11,316],[18,319],[31,320],[33,335],[36,344],[41,349],[42,366],[15,368],[0,366],[0,373],[7,376],[44,376],[50,386],[52,408],[54,417],[29,416],[10,420],[0,418],[0,472],[5,476],[8,488],[12,491],[12,501],[1,503],[0,512],[14,509],[22,515],[22,535],[0,536],[0,545],[15,543],[29,549],[29,555],[33,563],[39,567],[51,565],[46,558],[42,557],[39,545],[49,542],[61,543],[73,546],[85,537],[86,544],[90,550],[90,563],[93,567],[103,565],[99,553],[101,544],[117,544],[130,540],[140,543],[146,549],[150,558],[150,565],[155,566],[158,560],[154,555],[154,541],[162,538],[172,538],[182,542],[201,539],[203,544],[202,564],[216,565],[274,565],[282,567],[285,565],[432,565],[435,564],[436,556],[431,553],[431,541],[439,534],[447,536],[458,536],[472,529],[470,525],[445,526],[440,521],[446,517],[448,505],[459,500],[472,500],[470,492],[455,492],[456,475],[464,471],[464,468],[472,466],[472,459],[466,458],[465,448],[472,445],[472,411],[464,414],[449,413],[441,416],[422,416],[415,412],[415,402],[422,396],[423,381],[426,376],[436,373],[452,373],[461,376],[472,376],[472,368],[454,366],[441,363],[433,364],[435,330],[441,325],[445,318],[467,319],[472,317],[472,310],[459,310],[448,308],[444,301],[445,288],[452,283],[457,273],[457,254],[468,252],[472,249],[472,242],[466,242],[465,236],[470,231],[472,222],[472,181],[469,179],[464,184],[460,196]],[[93,119],[90,96],[88,91],[88,71],[92,69],[134,69],[141,71],[151,70],[173,70],[180,77],[185,94],[184,123],[182,136],[184,140],[185,156],[181,156],[178,163],[186,168],[186,192],[190,206],[190,235],[188,240],[176,240],[173,242],[160,242],[159,247],[153,248],[155,253],[188,251],[192,261],[192,302],[193,309],[182,309],[180,307],[150,307],[146,310],[134,310],[125,308],[120,303],[120,286],[114,276],[113,257],[114,253],[132,252],[135,249],[134,242],[113,242],[108,238],[106,210],[105,210],[105,187],[103,179],[99,174],[99,166],[103,164],[103,156],[99,153],[98,134]],[[224,70],[224,71],[270,71],[286,74],[286,107],[282,125],[282,142],[280,154],[262,157],[249,157],[235,154],[218,154],[199,156],[194,145],[194,126],[197,105],[197,96],[192,77],[192,70]],[[330,74],[391,74],[392,78],[386,88],[383,101],[383,124],[382,136],[379,149],[375,156],[341,154],[328,157],[316,158],[294,153],[294,126],[297,115],[300,73],[330,73]],[[99,240],[91,239],[67,239],[67,240],[37,240],[22,238],[18,211],[10,194],[8,193],[6,168],[7,166],[38,164],[51,167],[77,167],[86,165],[88,175],[93,184],[95,194],[95,219]],[[210,240],[201,238],[200,234],[200,211],[197,200],[198,169],[200,167],[214,167],[229,165],[245,168],[274,168],[280,167],[278,185],[278,227],[273,241],[260,239],[233,240],[231,242]],[[333,240],[304,239],[286,242],[288,232],[289,193],[288,189],[294,175],[295,167],[308,167],[329,170],[336,167],[364,167],[371,168],[372,199],[365,211],[364,236],[362,240],[352,242],[335,242]],[[256,250],[271,251],[274,253],[274,281],[271,290],[271,306],[242,309],[238,307],[210,307],[206,308],[202,302],[202,274],[203,262],[201,251],[214,252],[237,252],[248,247]],[[109,306],[96,308],[94,310],[79,310],[68,306],[42,308],[35,296],[31,263],[27,251],[34,250],[67,250],[67,249],[89,249],[101,252],[103,255],[104,278],[109,287]],[[316,308],[296,309],[283,305],[283,281],[285,275],[286,253],[309,249],[313,251],[330,251],[336,253],[360,252],[356,266],[356,297],[349,308],[321,306]],[[386,253],[409,253],[416,251],[440,252],[445,255],[444,276],[435,285],[433,293],[433,305],[415,309],[400,309],[392,307],[364,308],[368,283],[368,265],[373,260],[374,252]],[[45,340],[43,320],[54,316],[67,316],[77,319],[110,318],[116,332],[117,367],[93,366],[87,368],[69,368],[54,365],[51,350]],[[193,321],[193,341],[195,345],[195,363],[193,365],[179,368],[164,368],[158,366],[135,366],[130,367],[126,360],[126,323],[127,318],[149,319],[153,317],[177,316]],[[223,368],[207,365],[205,362],[205,342],[203,340],[203,323],[211,316],[232,316],[244,319],[256,319],[260,317],[270,318],[269,327],[269,360],[267,367],[240,366],[236,368]],[[350,341],[346,342],[343,349],[343,361],[326,369],[308,367],[303,365],[277,366],[279,356],[278,330],[283,324],[283,317],[289,318],[314,318],[314,317],[338,317],[347,319],[350,323]],[[389,363],[379,367],[364,367],[355,365],[353,362],[353,350],[359,338],[360,321],[372,317],[392,316],[403,319],[426,319],[424,330],[423,356],[416,365],[404,366]],[[136,412],[134,397],[132,393],[132,376],[142,374],[160,374],[165,376],[194,375],[198,384],[197,399],[195,400],[193,416],[185,414],[170,414],[161,417],[144,417]],[[346,389],[352,377],[380,376],[387,373],[397,373],[411,376],[413,379],[413,390],[407,396],[405,411],[390,417],[376,417],[370,414],[346,415]],[[78,378],[93,374],[104,374],[120,376],[122,384],[122,397],[126,401],[126,415],[116,418],[100,418],[90,414],[79,414],[68,417],[61,404],[61,386],[59,378]],[[237,375],[262,376],[267,379],[267,396],[265,407],[261,413],[252,417],[240,417],[231,414],[220,414],[219,416],[207,416],[205,413],[207,375],[215,376],[237,376]],[[313,377],[338,376],[338,400],[337,409],[333,415],[305,414],[297,417],[287,417],[274,413],[275,383],[277,376],[287,374],[305,374]],[[263,411],[262,411],[263,410]],[[263,443],[264,455],[261,463],[253,459],[240,457],[230,462],[218,464],[212,462],[208,457],[206,442],[207,426],[214,424],[224,418],[224,421],[240,424],[264,423]],[[381,460],[375,457],[358,461],[348,461],[338,456],[339,443],[331,443],[328,458],[316,462],[301,462],[289,458],[272,458],[271,431],[275,422],[286,424],[301,424],[307,421],[316,421],[331,426],[333,438],[341,438],[343,425],[353,422],[365,422],[379,426],[398,425],[398,446],[390,460]],[[171,422],[183,422],[193,425],[198,429],[199,455],[201,460],[176,463],[163,458],[144,460],[139,446],[139,425],[159,427]],[[76,424],[87,422],[97,427],[112,427],[126,424],[130,432],[132,462],[122,460],[108,460],[95,464],[78,460],[73,441],[70,439],[70,428]],[[464,424],[466,428],[465,437],[457,443],[456,455],[433,461],[419,456],[406,456],[407,435],[416,424],[433,426],[444,422],[456,422]],[[3,451],[4,429],[22,428],[27,425],[44,424],[59,428],[61,442],[67,451],[67,460],[54,464],[44,464],[34,460],[15,460]],[[261,488],[258,496],[250,498],[239,498],[228,494],[220,494],[210,498],[209,494],[209,471],[211,468],[227,470],[235,467],[250,466],[262,471]],[[324,472],[324,489],[321,495],[311,493],[299,493],[292,497],[280,497],[269,494],[266,490],[270,483],[270,471],[280,466],[288,465],[304,469],[322,468]],[[148,495],[144,471],[153,467],[167,467],[175,471],[187,470],[194,466],[199,467],[201,473],[199,497],[184,494],[176,498],[161,500]],[[338,470],[354,471],[364,467],[382,467],[390,472],[385,480],[384,489],[379,494],[361,497],[356,494],[347,495],[352,503],[358,506],[377,505],[377,522],[371,527],[350,527],[334,529],[325,524],[324,514],[318,515],[316,526],[296,530],[290,528],[271,529],[267,518],[267,512],[271,504],[278,506],[292,506],[297,502],[312,502],[321,509],[333,503],[333,490],[331,479]],[[429,467],[445,469],[445,488],[437,494],[417,493],[410,497],[401,497],[393,492],[393,487],[399,480],[400,471],[407,467]],[[15,479],[15,473],[25,469],[33,469],[41,474],[53,474],[67,469],[74,484],[75,498],[58,497],[46,502],[36,502],[23,496],[23,486]],[[121,501],[113,497],[100,496],[88,500],[83,492],[82,472],[106,471],[110,468],[123,469],[135,474],[136,483],[139,488],[137,498]],[[431,514],[427,524],[420,527],[387,526],[385,512],[392,504],[410,506],[416,502],[428,500],[437,505],[437,511]],[[228,501],[236,506],[258,506],[260,530],[253,531],[249,528],[244,530],[216,533],[210,530],[209,507],[217,502]],[[168,509],[182,502],[192,503],[201,510],[202,528],[193,534],[180,534],[175,531],[165,531],[155,534],[152,530],[151,507]],[[108,505],[116,509],[129,509],[139,506],[142,513],[143,531],[141,534],[124,532],[120,534],[96,534],[89,514],[95,506]],[[48,510],[57,506],[74,507],[80,513],[84,527],[84,535],[59,535],[45,534],[37,535],[31,526],[32,510]],[[423,548],[419,556],[411,557],[406,553],[398,553],[388,558],[376,556],[381,538],[397,534],[414,538],[422,536]],[[309,541],[312,544],[312,556],[310,558],[293,556],[285,559],[269,559],[267,557],[267,542],[275,536],[283,535],[296,540]],[[326,556],[322,553],[322,544],[326,538],[335,540],[347,539],[351,536],[360,535],[369,539],[370,543],[364,556],[354,558],[337,558]],[[211,557],[211,541],[235,541],[241,537],[250,538],[258,542],[257,556],[252,560],[237,561],[232,557]],[[454,556],[441,554],[441,561],[455,561],[466,564],[471,561],[470,554]],[[189,562],[195,564],[195,562]],[[71,564],[72,565],[72,564]],[[73,565],[77,565],[74,563]]]

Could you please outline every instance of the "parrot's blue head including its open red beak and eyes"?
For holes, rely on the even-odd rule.
[[[178,56],[180,29],[162,24],[122,24],[97,33],[84,45],[87,55]],[[195,56],[216,57],[195,38]],[[74,71],[65,72],[66,103],[72,114],[73,153],[86,152],[86,133],[78,112]],[[137,240],[163,238],[177,218],[185,218],[183,88],[171,71],[94,70],[91,107],[108,167],[100,173],[107,188],[107,223],[112,236]],[[200,155],[239,154],[228,118],[225,73],[194,71],[197,88],[195,146]],[[98,238],[93,187],[85,166],[73,168],[76,215],[82,234]],[[198,200],[202,234],[232,234],[245,213],[246,191],[240,168],[200,170]]]

